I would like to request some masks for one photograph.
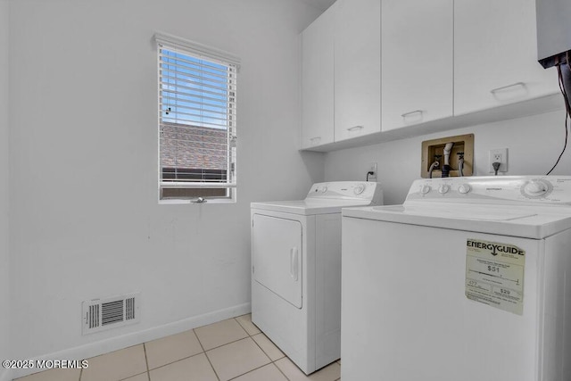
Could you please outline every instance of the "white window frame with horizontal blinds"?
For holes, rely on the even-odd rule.
[[[240,67],[240,60],[233,54],[203,46],[183,38],[171,36],[164,33],[156,33],[154,40],[157,44],[157,70],[158,70],[158,196],[159,203],[236,203],[236,75]],[[175,54],[184,54],[194,59],[211,62],[217,65],[228,67],[228,113],[226,114],[226,147],[227,165],[225,172],[225,181],[221,179],[212,180],[204,179],[204,171],[202,168],[202,179],[184,179],[179,180],[178,175],[175,179],[163,178],[163,162],[161,162],[161,132],[164,128],[209,128],[208,123],[199,125],[188,124],[191,121],[186,120],[186,124],[177,124],[168,121],[169,112],[165,112],[163,104],[163,85],[166,79],[161,77],[161,50],[166,50]],[[201,77],[202,79],[202,77]],[[177,85],[178,86],[178,85]],[[176,104],[178,105],[178,104]],[[170,109],[169,109],[170,110]],[[177,110],[172,112],[177,114]],[[184,112],[177,115],[181,117]],[[201,110],[202,114],[202,110]],[[188,117],[190,119],[190,117]],[[214,131],[214,128],[210,128]],[[221,128],[224,131],[224,128]],[[166,149],[166,148],[165,148]],[[176,151],[176,150],[175,150]],[[166,167],[165,167],[166,168]],[[175,165],[175,168],[178,168]],[[176,170],[175,170],[176,171]],[[176,195],[179,194],[179,195]],[[217,195],[212,195],[217,194]],[[224,195],[222,195],[224,194]]]

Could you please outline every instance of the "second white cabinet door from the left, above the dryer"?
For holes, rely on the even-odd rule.
[[[335,4],[335,142],[381,130],[381,0]]]

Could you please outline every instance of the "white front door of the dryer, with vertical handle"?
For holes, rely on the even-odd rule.
[[[254,280],[302,308],[302,223],[261,214],[252,219]]]

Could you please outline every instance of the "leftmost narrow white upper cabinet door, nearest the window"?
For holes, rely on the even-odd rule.
[[[302,32],[302,148],[333,143],[334,7]]]

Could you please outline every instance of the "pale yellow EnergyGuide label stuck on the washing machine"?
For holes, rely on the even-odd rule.
[[[525,251],[513,244],[468,238],[466,297],[500,310],[524,313]]]

